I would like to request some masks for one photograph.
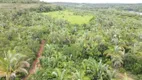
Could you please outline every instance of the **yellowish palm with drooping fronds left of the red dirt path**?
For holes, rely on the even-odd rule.
[[[6,80],[16,77],[16,73],[23,72],[28,74],[25,69],[30,67],[27,61],[22,60],[25,56],[19,53],[8,51],[4,57],[0,57],[0,77],[6,77]]]

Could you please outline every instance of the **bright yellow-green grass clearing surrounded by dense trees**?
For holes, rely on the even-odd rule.
[[[92,18],[92,15],[76,15],[74,12],[71,11],[54,11],[43,13],[45,15],[52,16],[58,19],[64,19],[70,22],[71,24],[87,24]]]

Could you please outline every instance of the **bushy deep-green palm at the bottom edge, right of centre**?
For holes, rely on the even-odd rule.
[[[93,74],[91,78],[94,80],[111,80],[115,76],[115,71],[102,63],[102,60],[97,62],[93,58],[84,59],[82,62],[83,68],[86,70],[86,74]]]

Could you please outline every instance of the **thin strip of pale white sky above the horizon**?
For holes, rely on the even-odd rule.
[[[75,3],[142,3],[142,0],[41,0],[45,2],[75,2]]]

